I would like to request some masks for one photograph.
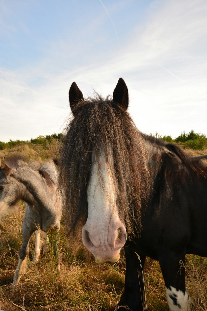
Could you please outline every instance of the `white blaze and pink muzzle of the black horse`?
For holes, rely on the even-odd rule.
[[[99,161],[93,156],[87,189],[88,219],[82,230],[82,238],[98,263],[119,260],[120,249],[126,240],[126,230],[116,205],[111,167],[112,156],[109,161],[106,161],[104,152],[101,152]]]

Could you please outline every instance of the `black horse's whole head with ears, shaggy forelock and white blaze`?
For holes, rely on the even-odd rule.
[[[142,138],[126,112],[128,89],[122,78],[113,100],[99,95],[84,100],[73,82],[69,101],[74,118],[61,148],[60,172],[66,221],[70,231],[82,226],[83,244],[96,262],[115,262],[126,242],[126,227],[131,230],[133,219],[139,221],[146,168]]]

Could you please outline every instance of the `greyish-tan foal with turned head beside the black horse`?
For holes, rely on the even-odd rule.
[[[6,167],[0,168],[0,219],[15,209],[17,202],[25,201],[23,217],[23,244],[19,251],[19,262],[12,285],[20,281],[26,272],[29,240],[35,231],[35,251],[33,261],[38,262],[43,243],[41,231],[47,244],[47,229],[60,230],[62,214],[61,197],[57,191],[58,159],[46,163],[25,162],[19,155],[8,157]],[[59,255],[58,255],[59,256]],[[60,262],[58,263],[60,270]]]

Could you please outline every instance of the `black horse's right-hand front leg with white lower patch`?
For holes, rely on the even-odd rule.
[[[159,256],[170,311],[190,311],[190,299],[185,288],[185,254],[165,251]]]

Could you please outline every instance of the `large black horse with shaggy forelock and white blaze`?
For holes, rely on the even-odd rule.
[[[84,100],[73,82],[69,102],[60,166],[68,233],[82,230],[97,263],[118,261],[124,246],[125,286],[114,310],[143,310],[148,256],[159,261],[170,311],[189,311],[185,255],[207,257],[207,155],[140,132],[122,78],[106,99]]]

